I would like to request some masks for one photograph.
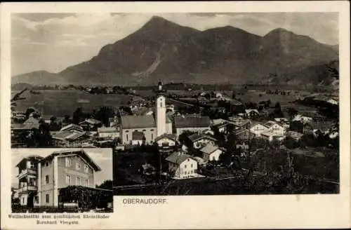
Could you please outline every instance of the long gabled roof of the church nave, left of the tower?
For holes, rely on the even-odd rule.
[[[156,127],[154,116],[121,116],[121,128],[154,128]]]

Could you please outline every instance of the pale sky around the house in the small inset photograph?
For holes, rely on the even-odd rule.
[[[13,187],[18,185],[18,168],[15,165],[22,158],[30,155],[39,155],[46,157],[54,151],[62,151],[65,149],[12,149],[11,158],[11,184]],[[72,149],[69,149],[72,150]],[[105,180],[112,180],[112,149],[84,149],[93,161],[99,165],[101,171],[95,172],[95,184],[101,184]]]

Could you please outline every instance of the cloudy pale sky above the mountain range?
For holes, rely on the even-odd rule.
[[[338,44],[338,13],[15,13],[11,15],[12,76],[60,72],[140,29],[153,15],[205,30],[230,25],[263,36],[278,27]]]

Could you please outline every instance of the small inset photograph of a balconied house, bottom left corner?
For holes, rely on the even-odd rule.
[[[12,212],[113,212],[112,149],[13,149]]]

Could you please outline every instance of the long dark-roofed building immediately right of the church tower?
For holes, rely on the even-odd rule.
[[[185,131],[201,133],[210,129],[210,118],[208,116],[176,116],[174,118],[177,138]]]

